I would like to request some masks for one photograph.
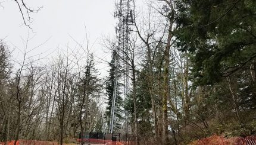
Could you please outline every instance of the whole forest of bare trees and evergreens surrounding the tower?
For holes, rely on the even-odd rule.
[[[27,19],[43,8],[15,2],[31,30]],[[256,1],[127,4],[127,17],[116,5],[116,36],[102,38],[111,54],[102,60],[104,77],[89,39],[48,62],[27,55],[37,49],[29,39],[23,60],[13,62],[13,48],[1,40],[0,142],[68,143],[79,133],[109,132],[113,115],[113,132],[136,144],[256,134]]]

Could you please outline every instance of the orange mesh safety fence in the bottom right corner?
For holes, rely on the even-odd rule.
[[[248,137],[231,137],[224,138],[220,136],[211,136],[207,138],[202,138],[201,140],[196,140],[190,143],[191,145],[255,145],[256,144],[256,136],[248,136]]]

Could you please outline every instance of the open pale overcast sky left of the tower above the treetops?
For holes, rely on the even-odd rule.
[[[4,39],[11,49],[17,46],[23,51],[22,38],[27,38],[29,28],[22,25],[23,20],[14,1],[0,1],[0,39]],[[114,37],[114,0],[27,0],[26,3],[32,8],[43,7],[38,13],[31,15],[33,23],[30,26],[34,33],[30,30],[30,37],[35,37],[30,40],[29,48],[38,46],[49,38],[30,55],[45,51],[49,54],[57,47],[66,49],[67,44],[72,48],[76,43],[71,37],[82,43],[86,36],[86,26],[90,45],[96,41],[91,51],[101,59],[109,58],[109,55],[102,51],[99,41],[102,36]],[[22,53],[15,49],[14,59],[21,59],[21,56]],[[105,73],[104,65],[98,64],[98,67],[100,72]]]

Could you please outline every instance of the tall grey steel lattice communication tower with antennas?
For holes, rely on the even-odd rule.
[[[127,65],[127,57],[125,53],[129,49],[129,34],[130,34],[130,25],[134,22],[134,11],[131,8],[132,0],[118,0],[116,2],[115,7],[116,11],[114,12],[114,17],[118,19],[117,27],[115,27],[115,33],[117,34],[118,39],[118,46],[115,50],[117,53],[116,55],[116,63],[115,63],[115,80],[114,80],[114,92],[113,92],[113,99],[112,99],[112,106],[111,106],[111,115],[110,115],[110,133],[113,133],[114,130],[121,130],[121,127],[118,126],[117,122],[115,121],[115,99],[117,94],[117,81],[118,81],[118,75],[121,75],[121,80],[124,88],[123,88],[123,98],[124,100],[127,99],[127,93],[129,92],[129,86],[130,86],[130,79],[128,77],[129,75],[129,66]],[[120,57],[122,58],[120,61]],[[120,70],[122,70],[124,73],[121,73]],[[127,134],[127,111],[124,112],[125,114],[125,130]]]

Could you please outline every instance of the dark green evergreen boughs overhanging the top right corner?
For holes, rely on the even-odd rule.
[[[193,56],[198,84],[216,83],[256,57],[255,1],[179,2],[176,45]]]

